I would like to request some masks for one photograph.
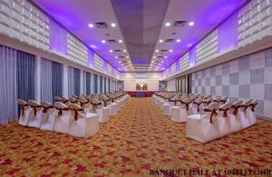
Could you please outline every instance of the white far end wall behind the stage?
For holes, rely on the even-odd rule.
[[[146,73],[146,78],[141,79],[137,79],[135,73],[124,73],[122,75],[125,91],[134,91],[136,90],[136,84],[144,83],[148,84],[148,90],[150,91],[159,90],[160,73]]]

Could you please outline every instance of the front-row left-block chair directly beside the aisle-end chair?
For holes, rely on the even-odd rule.
[[[56,113],[54,116],[53,131],[56,133],[68,133],[69,124],[72,122],[71,113],[66,104],[53,103]]]

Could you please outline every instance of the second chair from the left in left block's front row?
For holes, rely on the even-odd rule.
[[[34,100],[29,100],[28,104],[31,106],[31,112],[28,119],[28,126],[34,128],[40,128],[43,115],[43,107],[41,104]]]

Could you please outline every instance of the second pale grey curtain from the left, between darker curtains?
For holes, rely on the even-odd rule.
[[[53,103],[52,61],[41,59],[41,101]]]

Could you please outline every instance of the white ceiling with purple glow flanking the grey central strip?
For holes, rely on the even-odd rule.
[[[124,5],[124,10],[127,8],[128,13],[131,11],[137,11],[141,14],[141,8],[151,8],[152,5],[156,6],[157,0],[33,0],[35,4],[44,8],[44,10],[53,16],[60,24],[69,29],[73,34],[78,36],[85,44],[88,44],[92,49],[112,64],[115,68],[120,69],[123,72],[130,71],[162,71],[169,66],[177,57],[189,49],[189,44],[195,44],[201,37],[209,33],[216,25],[224,20],[228,15],[232,14],[238,6],[242,5],[245,0],[205,0],[205,3],[199,3],[203,1],[199,0],[170,0],[168,7],[165,8],[165,16],[162,18],[160,24],[160,34],[155,41],[154,49],[150,52],[150,56],[163,56],[162,59],[158,58],[143,58],[149,60],[148,64],[133,64],[131,65],[129,50],[123,35],[121,34],[121,26],[116,17],[112,7],[112,1],[120,5]],[[136,4],[131,6],[129,3]],[[136,6],[143,4],[143,7]],[[127,6],[126,6],[127,5]],[[163,5],[163,4],[161,4]],[[145,6],[145,7],[144,7]],[[145,9],[148,12],[149,9]],[[161,12],[160,12],[161,14]],[[153,18],[150,15],[145,15],[147,20],[145,24],[153,23]],[[185,24],[183,27],[167,27],[166,22],[170,22],[172,25],[174,21],[194,21],[194,26]],[[105,22],[109,25],[109,28],[99,29],[96,26],[89,28],[90,23]],[[111,27],[111,24],[115,23],[116,27]],[[141,25],[141,24],[139,24]],[[142,25],[144,26],[144,25]],[[158,26],[157,26],[158,27]],[[143,40],[145,42],[151,38],[151,29],[142,30]],[[175,34],[173,34],[175,33]],[[108,35],[110,34],[110,35]],[[126,35],[126,37],[128,37]],[[133,38],[133,36],[131,36]],[[102,40],[115,39],[118,41],[121,39],[122,43],[102,44]],[[180,43],[159,43],[159,40],[165,39],[180,39]],[[137,40],[137,39],[135,39]],[[110,52],[110,50],[121,50],[121,52]],[[156,50],[165,49],[168,52],[156,53]],[[169,50],[173,52],[170,53]],[[127,52],[122,52],[126,50]],[[133,54],[132,54],[133,55]],[[117,56],[115,58],[115,56]],[[123,58],[121,58],[123,56]],[[164,58],[167,56],[168,58]],[[137,59],[137,58],[136,58]],[[153,63],[151,63],[153,61]],[[133,63],[133,62],[132,62]],[[152,64],[152,66],[150,65]],[[159,65],[160,64],[160,65]]]

